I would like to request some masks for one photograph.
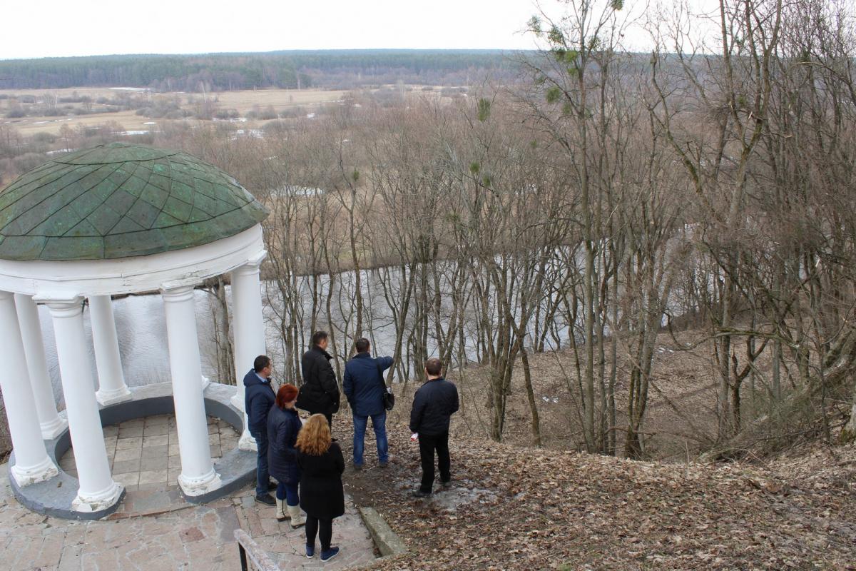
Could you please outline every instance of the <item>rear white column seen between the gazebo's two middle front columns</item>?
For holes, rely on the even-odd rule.
[[[98,392],[95,393],[102,406],[132,398],[122,358],[119,356],[119,338],[116,336],[116,320],[110,295],[91,295],[89,310],[92,318],[92,345],[95,346],[95,365],[98,367]]]

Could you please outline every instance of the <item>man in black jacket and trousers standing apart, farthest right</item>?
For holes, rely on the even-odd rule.
[[[449,460],[449,419],[458,410],[458,390],[440,374],[443,366],[437,358],[425,363],[428,380],[413,396],[410,411],[412,439],[419,439],[419,457],[422,461],[422,484],[413,491],[415,497],[431,496],[434,485],[434,450],[437,450],[437,465],[440,481],[449,485],[452,479]]]

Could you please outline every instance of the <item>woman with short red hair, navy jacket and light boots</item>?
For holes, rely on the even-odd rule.
[[[300,467],[297,465],[297,434],[302,423],[294,401],[297,401],[297,387],[283,384],[276,392],[276,403],[268,413],[268,466],[270,475],[276,478],[276,520],[291,519],[291,528],[306,524],[300,514]],[[288,512],[288,514],[286,514]]]

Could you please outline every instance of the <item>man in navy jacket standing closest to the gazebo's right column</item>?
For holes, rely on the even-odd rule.
[[[256,468],[256,502],[274,506],[276,500],[268,491],[270,473],[267,465],[267,416],[270,407],[276,401],[276,395],[270,386],[270,359],[267,355],[259,355],[253,361],[253,368],[244,376],[244,411],[247,413],[247,429],[256,439],[259,449],[258,467]]]

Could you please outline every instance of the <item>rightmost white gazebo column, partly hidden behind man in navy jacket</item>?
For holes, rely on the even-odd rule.
[[[259,266],[266,255],[267,252],[263,251],[247,264],[232,271],[232,324],[235,334],[235,380],[238,385],[235,396],[232,397],[232,404],[240,410],[244,410],[244,375],[253,368],[253,360],[266,351],[259,281]],[[247,430],[246,413],[238,448],[256,449],[256,441]]]

